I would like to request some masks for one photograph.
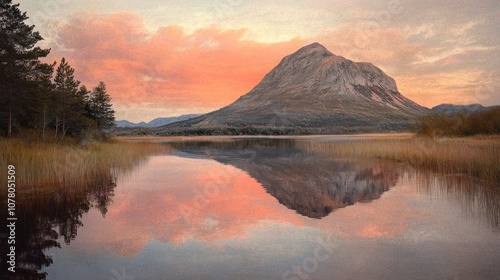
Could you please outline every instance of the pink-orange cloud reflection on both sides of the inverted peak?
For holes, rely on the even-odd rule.
[[[214,173],[228,174],[231,179],[214,182]],[[195,198],[203,192],[203,186],[211,184],[218,184],[219,194],[198,203]],[[260,228],[263,221],[319,227],[342,238],[396,237],[404,233],[409,220],[418,216],[407,204],[401,193],[393,190],[384,195],[384,200],[339,209],[318,223],[280,205],[259,182],[230,165],[152,157],[116,189],[106,219],[92,217],[90,224],[86,222],[99,228],[100,234],[83,242],[130,255],[140,252],[149,240],[180,245],[191,239],[212,243],[249,238],[249,230]],[[189,215],[182,213],[186,208]],[[79,238],[84,240],[85,236]]]

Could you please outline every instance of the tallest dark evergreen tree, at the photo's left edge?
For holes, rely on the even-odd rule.
[[[35,47],[43,38],[34,25],[25,23],[27,19],[19,4],[0,0],[0,130],[8,136],[14,125],[32,125],[32,116],[39,110],[35,85],[48,74],[39,58],[50,49]]]

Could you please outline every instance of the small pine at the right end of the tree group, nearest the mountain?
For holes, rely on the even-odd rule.
[[[106,84],[100,82],[92,90],[89,99],[89,117],[93,119],[99,131],[113,127],[115,111],[112,109],[111,98],[106,91]]]

